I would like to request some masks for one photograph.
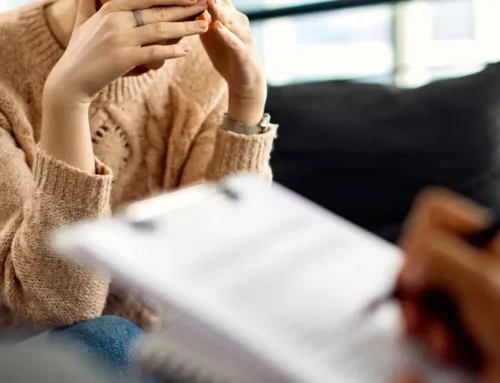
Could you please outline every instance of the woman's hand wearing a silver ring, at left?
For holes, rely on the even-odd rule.
[[[190,47],[164,45],[205,33],[206,21],[187,20],[207,8],[206,0],[111,0],[96,12],[95,0],[79,0],[68,47],[50,73],[45,95],[89,105],[109,83],[137,66],[183,57]],[[146,25],[137,26],[133,11]]]

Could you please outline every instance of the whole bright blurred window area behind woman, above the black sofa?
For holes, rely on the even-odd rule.
[[[29,1],[0,0],[0,11]],[[321,12],[288,17],[266,11],[321,0],[233,1],[259,18],[252,24],[272,85],[349,79],[412,87],[500,59],[499,0],[330,0]]]

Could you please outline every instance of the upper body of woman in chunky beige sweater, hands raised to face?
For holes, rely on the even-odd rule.
[[[221,0],[44,0],[1,16],[0,46],[1,324],[152,326],[45,239],[180,185],[270,178],[276,127],[248,19]]]

